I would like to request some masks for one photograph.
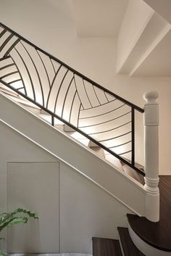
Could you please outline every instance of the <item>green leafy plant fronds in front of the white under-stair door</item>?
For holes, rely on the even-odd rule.
[[[27,223],[29,218],[38,219],[38,216],[36,216],[35,212],[22,208],[18,208],[13,212],[4,212],[0,215],[0,232],[13,224]],[[0,237],[0,240],[4,240],[4,238]],[[5,255],[7,255],[6,252],[0,249],[0,256]]]

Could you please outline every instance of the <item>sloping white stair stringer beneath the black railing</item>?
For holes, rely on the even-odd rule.
[[[134,181],[133,178],[128,178],[128,176],[126,176],[125,173],[121,173],[116,168],[113,168],[113,166],[110,165],[109,162],[102,160],[96,154],[92,154],[91,150],[86,148],[86,146],[82,146],[78,144],[78,142],[75,141],[74,139],[68,138],[66,134],[62,133],[61,131],[58,131],[57,128],[51,127],[51,125],[41,120],[41,118],[37,117],[28,110],[25,110],[19,104],[16,104],[11,99],[8,99],[6,96],[2,94],[0,94],[0,106],[3,106],[3,108],[0,107],[2,123],[12,128],[13,131],[20,133],[21,136],[24,136],[26,139],[32,141],[37,146],[40,146],[42,149],[46,150],[46,152],[49,152],[49,154],[52,154],[54,157],[57,157],[57,159],[64,162],[64,164],[69,165],[73,170],[77,171],[85,178],[88,178],[88,180],[92,181],[94,184],[96,184],[96,186],[99,186],[101,189],[106,191],[107,194],[112,196],[114,199],[117,199],[120,203],[128,207],[128,209],[130,209],[135,214],[139,216],[145,215],[146,191],[143,189],[143,186],[140,183]],[[18,115],[19,112],[20,115]],[[24,123],[22,121],[23,119],[21,118],[21,115],[25,115]],[[17,117],[19,117],[18,119],[20,120],[17,120]],[[67,143],[72,144],[72,147],[74,147],[74,149],[78,151],[77,153],[79,153],[80,151],[81,154],[79,154],[79,157],[81,156],[84,159],[84,156],[86,156],[86,160],[83,161],[84,166],[76,166],[78,156],[77,154],[74,153],[73,150],[71,152],[73,154],[72,157],[76,157],[75,164],[73,164],[73,159],[72,162],[71,159],[69,159],[68,157],[64,159],[64,157],[62,157],[62,155],[59,154],[61,150],[57,152],[57,150],[54,150],[55,147],[50,148],[49,146],[47,146],[45,142],[41,142],[41,139],[44,138],[45,133],[41,132],[41,135],[38,136],[39,138],[35,139],[35,136],[38,135],[35,130],[33,131],[33,129],[30,129],[28,127],[28,131],[24,131],[23,128],[26,128],[28,126],[30,120],[32,120],[32,123],[41,126],[43,130],[46,131],[46,133],[56,134],[56,137],[52,138],[52,141],[58,138],[60,139],[59,141],[63,141],[64,143],[66,143],[67,141]],[[33,131],[34,135],[33,133],[31,133],[31,131]],[[91,168],[91,165],[89,165],[89,162],[91,162],[89,161],[90,159],[93,160],[93,166],[96,167],[96,170],[93,170],[93,168]],[[123,194],[122,189],[120,189],[121,184],[122,186],[127,186],[127,189],[125,187],[125,194]],[[130,191],[130,194],[128,194],[128,191]],[[139,202],[141,202],[141,205],[135,203],[135,197],[138,199]]]

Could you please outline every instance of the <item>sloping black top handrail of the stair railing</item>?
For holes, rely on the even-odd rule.
[[[49,54],[47,51],[44,51],[43,49],[41,49],[40,47],[36,46],[35,44],[33,44],[32,42],[30,42],[28,39],[25,39],[23,36],[20,36],[20,34],[16,33],[14,30],[12,30],[11,28],[8,28],[6,25],[4,25],[3,23],[0,22],[0,26],[4,27],[5,29],[9,30],[9,32],[11,32],[12,34],[14,34],[15,36],[17,36],[18,38],[20,38],[21,40],[25,41],[26,43],[30,44],[31,46],[33,46],[36,50],[41,51],[43,54],[46,54],[47,56],[49,56],[51,59],[54,59],[55,61],[59,62],[62,66],[66,67],[68,70],[72,71],[73,73],[75,73],[75,75],[80,76],[81,78],[83,78],[83,80],[87,80],[89,83],[92,83],[93,86],[96,86],[98,88],[100,88],[101,90],[107,92],[107,94],[111,94],[112,96],[114,96],[115,98],[119,99],[121,102],[124,102],[125,104],[127,104],[130,107],[133,107],[135,110],[137,110],[138,112],[143,113],[144,110],[141,107],[138,107],[137,105],[133,104],[132,102],[129,102],[128,100],[122,98],[121,96],[114,94],[112,91],[109,91],[107,88],[104,88],[103,86],[100,86],[99,83],[94,82],[93,80],[91,80],[90,78],[87,78],[86,75],[81,74],[80,72],[78,72],[77,70],[75,70],[74,68],[70,67],[69,65],[65,64],[64,62],[62,62],[60,59],[57,59],[57,57],[54,57],[53,55]]]

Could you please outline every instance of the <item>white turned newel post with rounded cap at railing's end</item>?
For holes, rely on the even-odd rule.
[[[143,95],[144,104],[144,135],[145,135],[145,189],[146,218],[159,221],[159,94],[151,91]]]

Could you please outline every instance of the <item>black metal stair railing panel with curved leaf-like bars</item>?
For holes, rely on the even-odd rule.
[[[0,83],[135,166],[135,111],[112,93],[0,23]]]

